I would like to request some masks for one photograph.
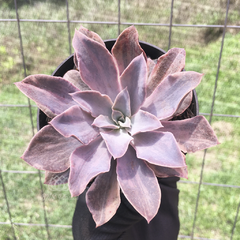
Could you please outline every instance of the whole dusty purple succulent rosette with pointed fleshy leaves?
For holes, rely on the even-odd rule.
[[[171,49],[155,64],[140,47],[133,26],[118,37],[112,54],[83,27],[76,30],[73,47],[79,81],[89,90],[44,75],[16,84],[54,117],[32,139],[23,159],[47,171],[48,184],[68,180],[72,196],[95,178],[86,202],[97,226],[116,213],[120,189],[149,222],[161,201],[156,176],[187,177],[181,151],[218,144],[202,116],[168,121],[188,108],[202,74],[181,72],[183,49]],[[46,154],[52,154],[50,160]]]

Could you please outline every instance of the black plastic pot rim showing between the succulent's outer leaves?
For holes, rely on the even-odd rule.
[[[109,51],[111,51],[116,39],[110,39],[110,40],[105,40],[106,47]],[[158,48],[152,44],[146,43],[139,41],[142,49],[145,51],[146,55],[150,57],[151,59],[157,59],[164,53],[166,53],[164,50],[161,48]],[[52,76],[58,76],[58,77],[63,77],[63,75],[74,68],[74,62],[73,62],[73,55],[71,55],[69,58],[67,58],[65,61],[63,61],[57,69],[53,72]],[[184,118],[189,118],[192,116],[196,116],[199,114],[199,107],[198,107],[198,99],[197,99],[197,93],[195,90],[193,90],[193,99],[192,103],[190,104],[189,108],[182,113],[179,117],[176,119],[184,119]],[[48,123],[48,118],[45,115],[44,112],[42,112],[40,109],[38,109],[38,114],[37,114],[37,128],[38,130],[47,125]]]

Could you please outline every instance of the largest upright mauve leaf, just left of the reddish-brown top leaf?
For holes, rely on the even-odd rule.
[[[114,101],[120,92],[118,69],[109,51],[100,43],[75,31],[73,47],[82,80],[92,89]]]

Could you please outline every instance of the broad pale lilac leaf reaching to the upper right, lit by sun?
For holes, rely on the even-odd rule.
[[[203,74],[179,72],[165,78],[146,99],[142,109],[159,120],[168,119],[178,109],[182,99],[201,82]]]

